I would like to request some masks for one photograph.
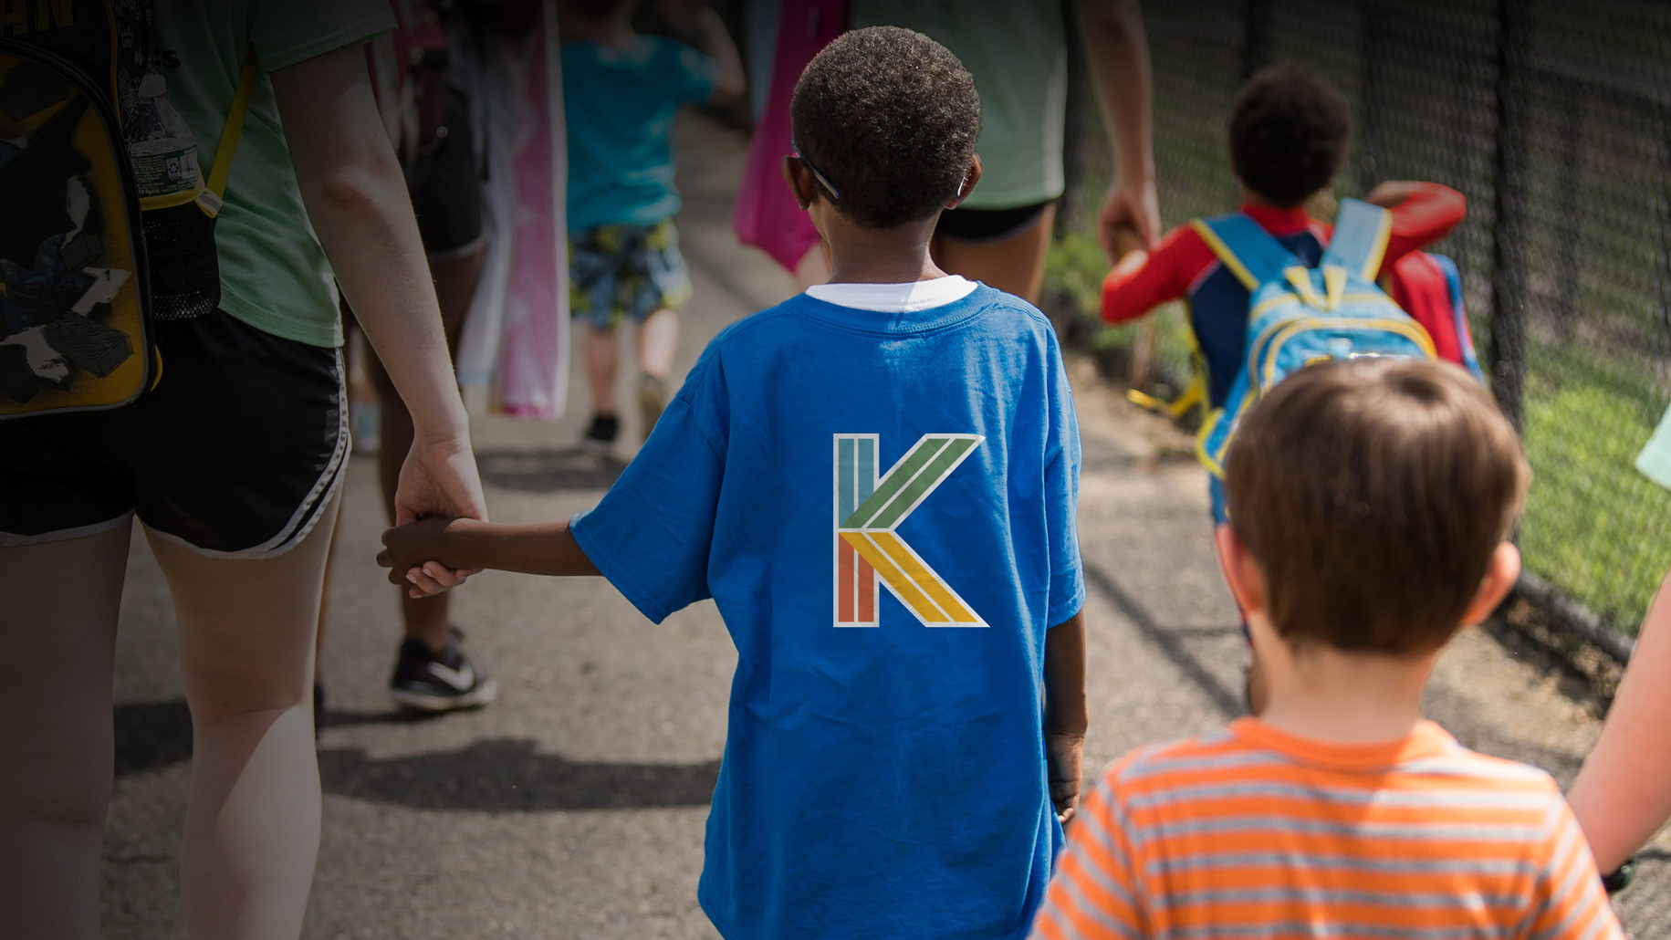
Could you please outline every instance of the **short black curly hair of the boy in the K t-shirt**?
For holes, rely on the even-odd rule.
[[[800,155],[839,192],[836,209],[867,229],[939,212],[981,134],[981,97],[957,57],[897,27],[829,43],[795,82],[789,115]]]

